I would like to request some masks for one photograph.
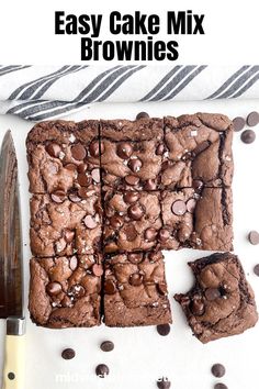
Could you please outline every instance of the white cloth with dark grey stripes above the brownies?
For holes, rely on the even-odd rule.
[[[0,66],[0,113],[40,121],[95,102],[259,98],[259,65]]]

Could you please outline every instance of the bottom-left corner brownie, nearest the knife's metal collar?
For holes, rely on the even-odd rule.
[[[101,322],[100,255],[33,258],[29,310],[37,325],[53,329]]]

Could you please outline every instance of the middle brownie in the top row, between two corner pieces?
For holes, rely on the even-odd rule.
[[[164,153],[161,119],[102,120],[101,166],[105,187],[157,190]]]

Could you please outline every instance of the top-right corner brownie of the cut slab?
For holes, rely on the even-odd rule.
[[[232,121],[216,113],[165,118],[161,188],[229,187]]]

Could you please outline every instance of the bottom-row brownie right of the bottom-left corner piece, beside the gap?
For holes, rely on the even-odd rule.
[[[105,258],[104,322],[109,326],[171,323],[161,252]]]

